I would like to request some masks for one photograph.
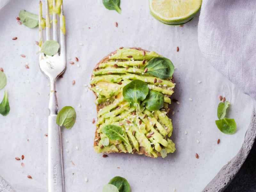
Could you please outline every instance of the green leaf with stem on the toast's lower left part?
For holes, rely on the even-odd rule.
[[[126,144],[130,145],[129,141],[126,140],[123,136],[124,130],[116,125],[106,125],[102,132],[107,135],[107,137],[111,140],[121,140],[124,141]]]

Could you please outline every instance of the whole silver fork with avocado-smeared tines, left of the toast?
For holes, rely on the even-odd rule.
[[[53,7],[55,7],[53,0]],[[50,40],[50,16],[48,0],[45,0],[46,10],[46,40]],[[63,15],[63,4],[60,6],[60,18]],[[58,42],[57,36],[57,15],[53,12],[53,40]],[[42,20],[42,3],[39,2],[39,40],[43,43],[43,28],[40,23]],[[60,28],[64,26],[63,20],[60,19]],[[39,51],[41,47],[39,48]],[[53,56],[39,53],[39,66],[41,71],[49,78],[51,91],[49,101],[49,117],[48,117],[48,192],[64,192],[64,177],[62,164],[62,148],[60,126],[56,124],[58,111],[57,96],[55,90],[56,79],[66,69],[66,40],[65,34],[60,30],[60,50]]]

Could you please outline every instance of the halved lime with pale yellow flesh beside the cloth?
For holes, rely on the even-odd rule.
[[[149,0],[150,13],[169,25],[181,25],[192,20],[202,0]]]

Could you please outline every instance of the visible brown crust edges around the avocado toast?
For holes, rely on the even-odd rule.
[[[140,47],[130,47],[130,49],[136,49],[136,50],[139,50],[139,51],[145,51],[145,52],[150,52],[150,51],[147,51],[147,50],[144,50],[144,49],[142,49],[142,48],[140,48]],[[113,51],[113,52],[111,52],[111,53],[109,53],[108,55],[106,55],[103,59],[101,59],[100,60],[100,62],[99,63],[97,63],[97,65],[95,66],[95,68],[93,69],[94,71],[96,71],[98,68],[99,68],[99,65],[101,64],[101,63],[104,63],[106,60],[108,60],[109,58],[109,56],[111,56],[111,54],[116,54],[116,51]],[[92,76],[91,76],[91,78],[92,78]],[[170,81],[172,81],[173,83],[174,83],[174,79],[173,79],[173,77],[172,77],[172,79],[170,80]],[[91,85],[91,87],[92,87],[92,85]],[[95,95],[95,97],[96,97],[96,99],[98,98],[98,96],[97,96],[97,94],[95,93],[95,92],[93,92],[94,93],[94,95]],[[96,106],[96,110],[97,110],[97,114],[98,114],[98,112],[99,112],[99,110],[101,109],[101,108],[103,108],[103,107],[100,107],[99,105],[97,105]],[[168,107],[167,109],[166,109],[166,112],[167,112],[167,115],[169,114],[169,111],[170,111],[170,108]],[[98,117],[97,117],[97,119],[98,119]],[[95,130],[95,136],[94,136],[94,142],[93,142],[93,147],[95,147],[95,146],[97,146],[98,145],[98,143],[99,143],[99,139],[100,139],[100,134],[97,132],[97,130],[98,130],[98,127],[96,127],[96,130]],[[107,153],[107,154],[109,154],[109,153],[121,153],[122,151],[118,151],[118,152],[116,152],[116,151],[107,151],[107,152],[104,152],[104,153]],[[153,157],[154,158],[154,156],[152,155],[152,154],[148,154],[148,152],[146,151],[146,149],[144,148],[144,147],[139,147],[139,151],[137,151],[137,150],[133,150],[133,152],[134,153],[137,153],[137,154],[139,154],[139,155],[146,155],[146,156],[149,156],[149,157]],[[156,154],[157,154],[157,156],[161,156],[161,154],[159,153],[159,152],[157,152],[157,151],[155,151],[156,152]]]

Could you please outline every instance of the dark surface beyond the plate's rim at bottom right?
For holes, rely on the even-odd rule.
[[[256,142],[236,177],[224,192],[256,192]]]

